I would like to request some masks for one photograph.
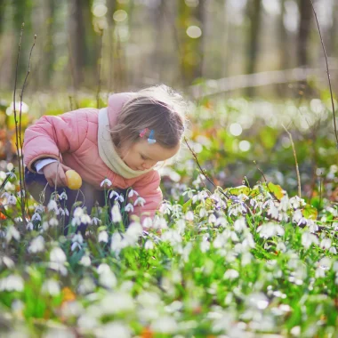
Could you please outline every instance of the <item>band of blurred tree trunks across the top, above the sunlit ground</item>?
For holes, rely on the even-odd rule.
[[[335,82],[338,2],[314,4]],[[272,73],[265,86],[266,76],[236,76],[298,67],[327,81],[310,0],[0,0],[3,92],[13,88],[22,22],[18,84],[37,35],[32,93],[96,90],[100,77],[103,92],[211,80],[213,93],[279,97],[302,74]]]

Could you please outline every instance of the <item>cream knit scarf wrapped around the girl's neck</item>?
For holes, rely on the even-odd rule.
[[[111,139],[109,129],[110,125],[109,125],[108,109],[102,108],[99,111],[99,131],[98,131],[99,154],[102,161],[114,173],[118,173],[125,179],[133,179],[135,177],[141,176],[144,173],[149,173],[151,170],[153,170],[153,168],[143,171],[133,170],[128,165],[125,165],[125,162],[117,154],[117,150],[115,149],[114,143]]]

